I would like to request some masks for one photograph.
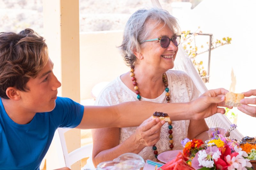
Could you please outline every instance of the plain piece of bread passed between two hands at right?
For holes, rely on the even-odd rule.
[[[242,99],[244,99],[244,94],[242,93],[227,92],[225,105],[233,107],[241,106],[240,100]]]

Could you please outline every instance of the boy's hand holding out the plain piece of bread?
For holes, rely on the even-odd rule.
[[[233,108],[225,105],[225,94],[228,90],[219,88],[208,90],[199,98],[190,102],[190,108],[194,119],[199,120],[214,115],[215,113],[225,114],[225,109],[221,107]]]

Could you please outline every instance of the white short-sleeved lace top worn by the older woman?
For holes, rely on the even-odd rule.
[[[196,99],[200,92],[195,87],[192,79],[187,75],[187,73],[183,71],[175,71],[168,70],[166,72],[168,78],[168,88],[170,89],[170,102],[188,102]],[[152,101],[156,103],[166,103],[165,99],[165,91],[158,96],[156,99],[146,99],[141,97],[141,100]],[[143,95],[143,94],[142,94]],[[122,102],[127,101],[136,101],[137,94],[130,90],[120,79],[117,77],[115,80],[110,82],[99,94],[97,100],[95,101],[95,105],[99,106],[110,106],[116,105]],[[161,111],[159,110],[156,111]],[[124,113],[125,114],[125,113]],[[152,113],[153,114],[153,113]],[[170,116],[171,117],[171,116]],[[172,120],[172,117],[171,117]],[[172,122],[172,135],[173,135],[173,150],[183,149],[180,141],[187,137],[188,134],[188,125],[189,120],[185,121],[173,121]],[[168,123],[166,122],[160,134],[160,140],[156,143],[158,154],[170,150],[169,148],[169,129]],[[130,137],[133,133],[135,133],[135,129],[137,127],[131,128],[120,128],[120,138],[119,144],[124,142],[128,137]],[[153,153],[152,146],[145,147],[139,155],[142,156],[143,159],[155,159],[155,155]]]

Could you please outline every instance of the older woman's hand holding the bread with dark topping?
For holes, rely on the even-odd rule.
[[[160,139],[161,127],[164,125],[164,121],[160,121],[159,118],[153,119],[150,117],[146,119],[136,129],[135,143],[140,144],[141,147],[153,146]]]

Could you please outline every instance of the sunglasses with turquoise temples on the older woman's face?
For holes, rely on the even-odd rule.
[[[167,48],[171,41],[175,46],[178,46],[180,44],[180,38],[181,38],[181,35],[174,35],[172,38],[162,36],[162,37],[151,39],[151,40],[145,40],[143,42],[159,40],[161,47]]]

